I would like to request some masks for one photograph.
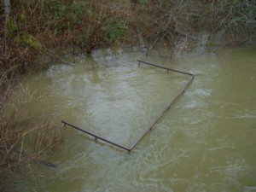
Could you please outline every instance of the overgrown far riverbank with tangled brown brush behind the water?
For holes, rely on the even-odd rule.
[[[248,44],[255,41],[255,12],[251,1],[19,0],[11,3],[8,20],[0,24],[0,75],[47,67],[38,64],[37,55],[56,59],[67,47],[90,53],[99,47],[134,44],[148,55],[157,43],[170,51],[185,49],[177,44],[181,39]]]

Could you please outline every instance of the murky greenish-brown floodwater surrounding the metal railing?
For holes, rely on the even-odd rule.
[[[131,154],[68,130],[51,157],[60,165],[55,176],[37,191],[256,190],[255,49],[176,61],[109,52],[72,56],[76,67],[55,65],[27,79],[40,96],[29,115],[54,115],[129,146],[187,81],[137,59],[195,73],[195,81]]]

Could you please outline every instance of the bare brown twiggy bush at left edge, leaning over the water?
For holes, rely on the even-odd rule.
[[[54,119],[31,123],[26,116],[26,103],[32,95],[24,88],[14,87],[15,79],[3,74],[0,77],[0,186],[1,191],[11,183],[9,173],[22,170],[33,172],[31,165],[55,166],[44,160],[62,141],[62,131],[55,126]],[[15,90],[14,90],[15,89]],[[24,168],[26,167],[26,168]],[[24,177],[27,177],[27,175]],[[3,188],[3,189],[2,189]]]

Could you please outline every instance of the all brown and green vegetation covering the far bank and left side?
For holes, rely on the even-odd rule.
[[[255,0],[15,0],[8,17],[3,1],[0,5],[0,180],[10,167],[38,161],[61,140],[49,119],[25,126],[20,112],[26,102],[13,103],[20,97],[13,94],[17,75],[44,67],[35,62],[38,55],[137,42],[146,42],[149,50],[160,41],[175,49],[180,38],[200,40],[201,32],[207,32],[208,45],[216,44],[218,32],[222,44],[256,38]],[[32,142],[27,138],[37,149],[25,148]]]

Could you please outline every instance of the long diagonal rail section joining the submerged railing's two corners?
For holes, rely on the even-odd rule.
[[[136,145],[137,145],[137,143],[139,143],[139,142],[143,139],[143,137],[145,137],[145,136],[147,135],[148,131],[152,130],[153,126],[157,123],[157,121],[159,121],[160,118],[164,115],[164,113],[166,113],[166,111],[167,111],[169,108],[172,107],[172,104],[173,104],[174,102],[176,102],[177,99],[178,99],[180,96],[183,95],[183,93],[185,92],[185,90],[188,89],[189,84],[192,83],[194,77],[195,77],[195,75],[192,74],[192,78],[189,79],[189,82],[188,82],[187,84],[185,84],[185,86],[179,91],[179,93],[177,94],[177,96],[175,96],[175,98],[172,100],[172,102],[170,102],[170,104],[167,106],[167,108],[165,108],[164,110],[162,110],[162,111],[158,114],[158,116],[156,117],[156,119],[154,119],[153,123],[148,126],[148,129],[143,132],[143,134],[141,135],[141,137],[139,137],[135,143],[133,143],[133,145],[131,146],[131,150],[132,150],[133,148],[135,148]]]

